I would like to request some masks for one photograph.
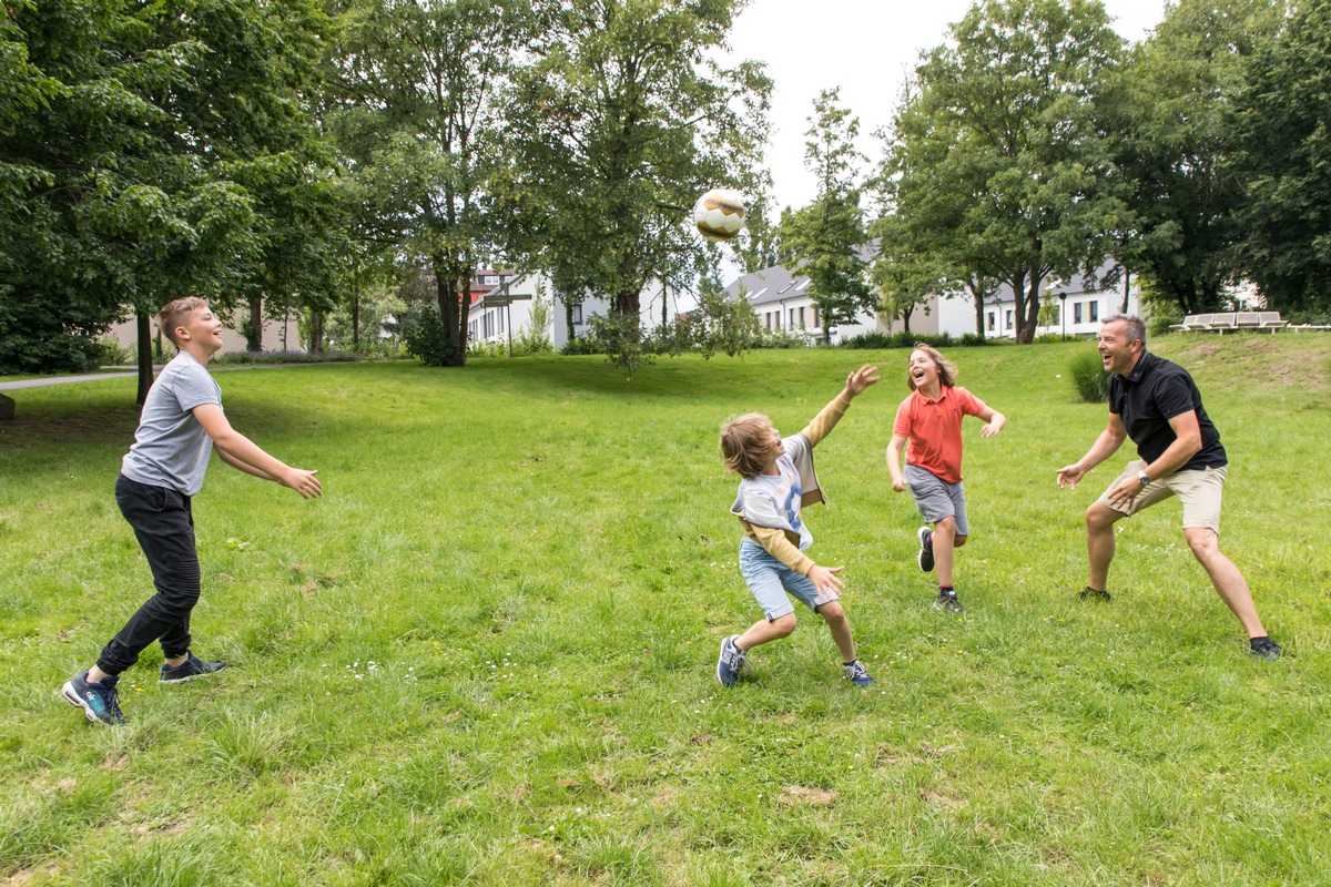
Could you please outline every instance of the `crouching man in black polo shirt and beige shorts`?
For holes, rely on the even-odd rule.
[[[1114,523],[1178,496],[1183,535],[1206,568],[1215,592],[1248,633],[1252,653],[1280,657],[1267,637],[1243,574],[1221,553],[1221,493],[1225,447],[1202,408],[1202,395],[1187,370],[1146,351],[1146,324],[1135,317],[1111,317],[1099,327],[1099,356],[1109,370],[1109,426],[1086,455],[1058,469],[1058,485],[1075,488],[1087,471],[1113,456],[1131,438],[1141,459],[1127,463],[1109,489],[1086,509],[1090,580],[1082,600],[1110,598],[1109,564],[1114,560]]]

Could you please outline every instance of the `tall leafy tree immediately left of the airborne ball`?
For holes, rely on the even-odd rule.
[[[687,223],[695,197],[759,184],[771,82],[752,63],[708,59],[741,5],[535,4],[535,61],[508,97],[507,242],[566,302],[604,297],[628,347],[647,283],[689,289],[711,262]]]

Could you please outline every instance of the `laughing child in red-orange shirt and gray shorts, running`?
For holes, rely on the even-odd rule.
[[[897,407],[888,444],[888,471],[892,489],[901,492],[910,487],[920,516],[929,527],[921,527],[917,560],[920,569],[938,570],[938,597],[933,606],[948,613],[960,613],[961,601],[952,581],[953,552],[966,544],[970,521],[966,520],[966,492],[961,485],[961,419],[978,416],[985,427],[981,438],[993,438],[1008,424],[996,412],[965,388],[957,387],[957,367],[926,344],[917,344],[906,364],[906,384],[910,395]],[[901,469],[901,447],[906,449],[905,473]]]

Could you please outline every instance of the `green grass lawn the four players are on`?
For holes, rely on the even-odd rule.
[[[1222,547],[1287,656],[1247,653],[1177,503],[1119,524],[1087,606],[1054,471],[1103,428],[1086,342],[953,348],[1009,418],[966,428],[964,617],[929,608],[882,451],[905,351],[218,374],[232,423],[325,496],[214,459],[194,500],[196,650],[57,688],[150,593],[112,496],[133,379],[11,392],[0,424],[3,884],[1324,884],[1331,882],[1331,338],[1167,338],[1230,452]],[[819,447],[813,557],[844,564],[866,692],[809,613],[716,684],[759,616],[720,423]],[[1117,471],[1117,468],[1115,468]]]

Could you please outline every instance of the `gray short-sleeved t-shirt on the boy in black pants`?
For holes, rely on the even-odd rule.
[[[204,364],[181,351],[148,390],[121,473],[141,484],[197,495],[204,487],[213,440],[190,410],[205,403],[221,407],[222,390]]]

